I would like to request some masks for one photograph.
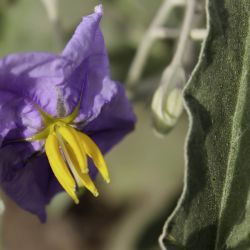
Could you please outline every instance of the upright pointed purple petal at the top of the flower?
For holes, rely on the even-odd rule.
[[[83,18],[62,52],[62,56],[72,62],[64,67],[66,82],[62,86],[68,114],[76,107],[82,93],[78,121],[93,120],[116,93],[99,28],[101,17],[101,6],[97,6],[95,13]]]

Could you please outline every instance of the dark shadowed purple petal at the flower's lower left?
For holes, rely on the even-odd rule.
[[[46,220],[45,206],[61,186],[55,179],[45,154],[24,161],[30,155],[28,143],[0,149],[0,184],[21,208]]]

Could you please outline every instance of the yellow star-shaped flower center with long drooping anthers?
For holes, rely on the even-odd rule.
[[[87,188],[94,196],[98,191],[89,176],[88,157],[109,183],[109,173],[104,157],[95,142],[72,126],[78,115],[79,105],[67,117],[52,117],[37,107],[44,123],[44,129],[26,141],[45,140],[45,152],[51,169],[69,196],[79,203],[76,187]]]

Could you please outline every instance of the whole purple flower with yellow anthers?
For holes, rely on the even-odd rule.
[[[134,128],[124,89],[110,79],[101,17],[97,6],[60,55],[0,61],[0,185],[42,221],[63,189],[76,203],[78,187],[98,195],[96,173],[109,182],[102,153]]]

